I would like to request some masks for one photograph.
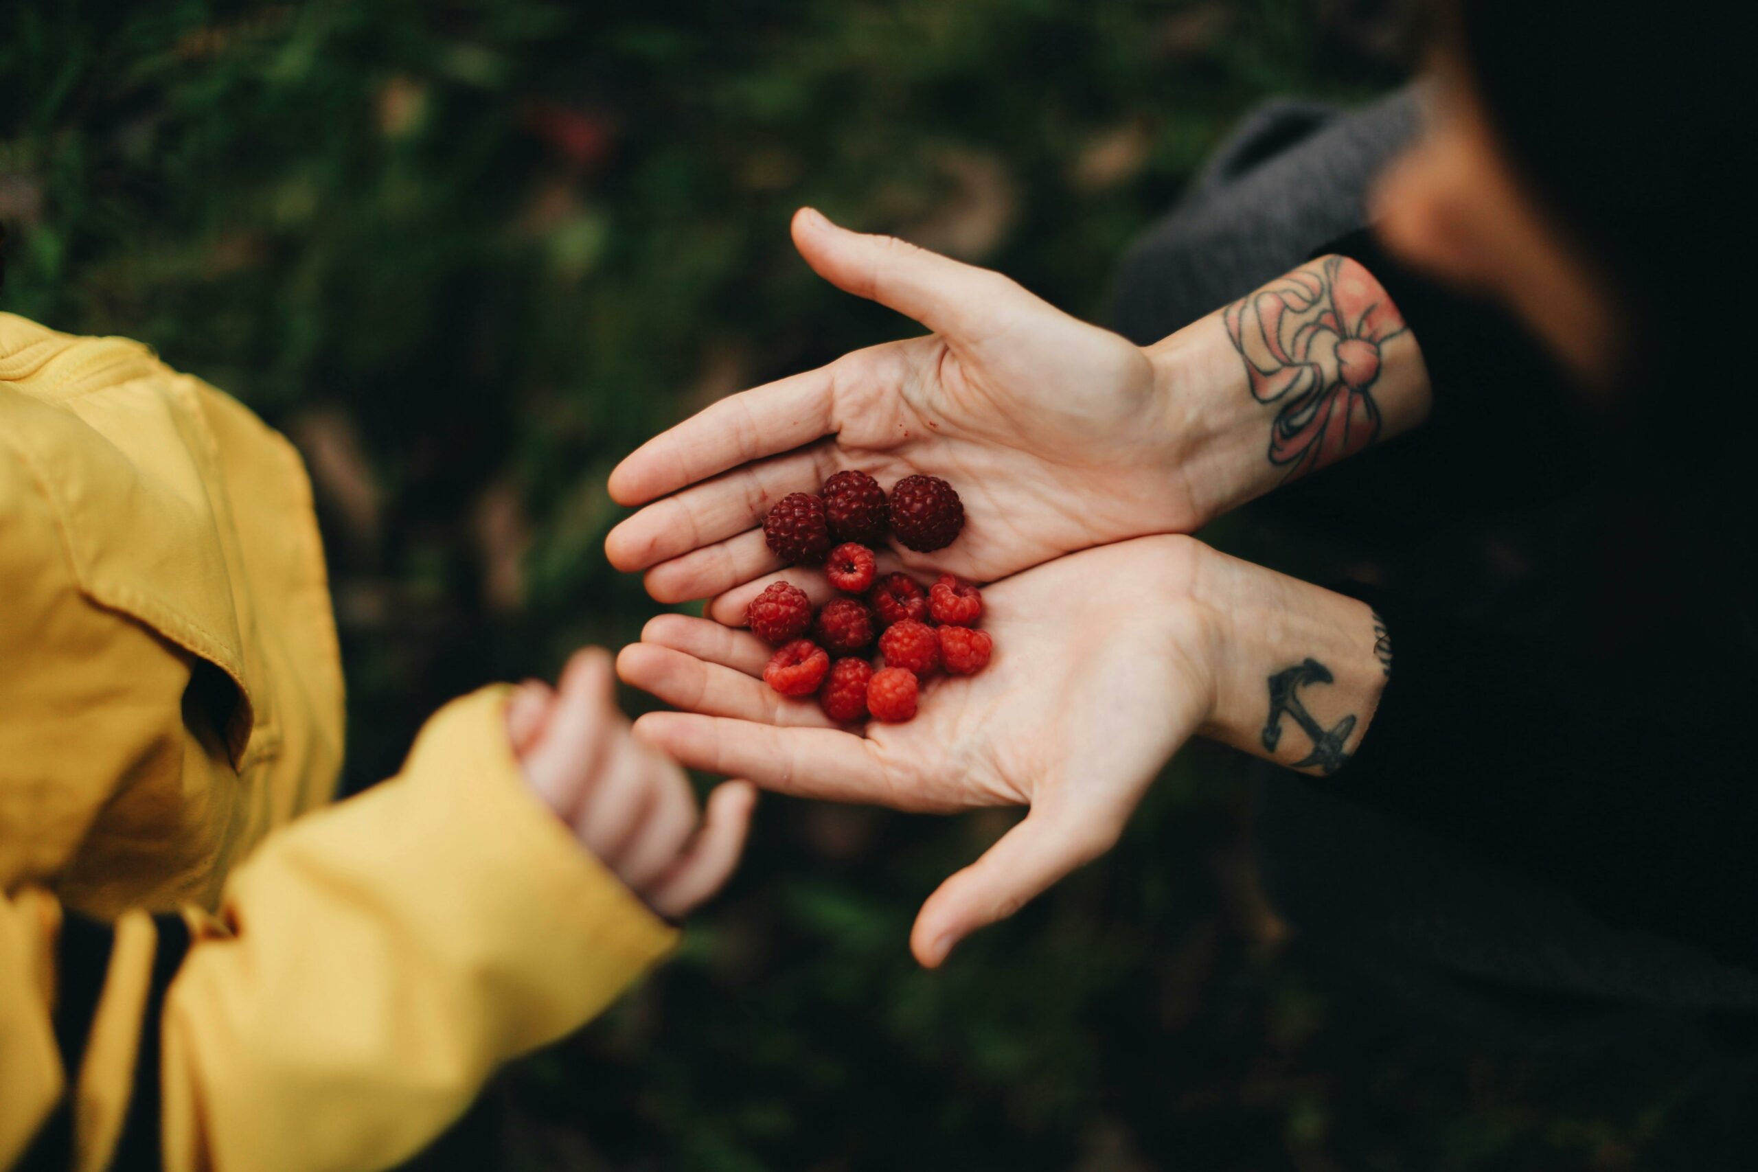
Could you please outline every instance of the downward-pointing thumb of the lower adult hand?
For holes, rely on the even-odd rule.
[[[1116,829],[1097,819],[1071,824],[1042,812],[1028,814],[981,859],[928,896],[909,935],[911,951],[925,968],[937,968],[972,931],[1007,919],[1115,842]]]

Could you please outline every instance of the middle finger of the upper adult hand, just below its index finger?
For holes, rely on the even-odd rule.
[[[617,569],[633,573],[756,529],[770,506],[789,492],[817,492],[828,457],[826,445],[814,445],[654,501],[610,531],[605,555]]]

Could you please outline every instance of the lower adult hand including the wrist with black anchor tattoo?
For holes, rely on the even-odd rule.
[[[823,575],[795,580],[830,594]],[[772,648],[707,619],[654,619],[617,669],[684,710],[643,715],[636,731],[693,768],[898,810],[1030,807],[923,905],[911,947],[935,966],[1108,850],[1195,734],[1296,770],[1341,768],[1391,662],[1364,603],[1181,536],[999,582],[983,592],[983,627],[995,650],[979,675],[930,678],[914,720],[865,734],[774,692],[761,680]]]

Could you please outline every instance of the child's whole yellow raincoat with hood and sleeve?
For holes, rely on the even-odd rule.
[[[318,810],[299,457],[144,346],[0,315],[0,1168],[378,1168],[661,956],[503,706]]]

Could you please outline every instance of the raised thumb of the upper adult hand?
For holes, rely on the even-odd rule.
[[[1037,300],[999,272],[930,253],[895,235],[849,232],[812,207],[795,213],[793,242],[812,271],[837,288],[890,306],[958,341],[983,341],[1021,300]]]

